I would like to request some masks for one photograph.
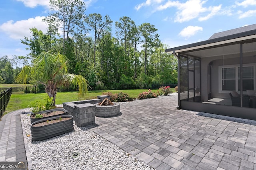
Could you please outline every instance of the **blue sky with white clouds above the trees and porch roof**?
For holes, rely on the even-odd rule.
[[[49,0],[2,0],[0,4],[0,57],[26,56],[29,28],[46,33],[42,22]],[[256,23],[256,0],[84,0],[86,14],[108,14],[114,23],[127,16],[136,25],[148,22],[169,47],[204,41],[212,34]]]

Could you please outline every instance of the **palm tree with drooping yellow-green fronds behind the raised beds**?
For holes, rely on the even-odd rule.
[[[33,78],[43,84],[45,92],[55,99],[57,88],[60,86],[79,87],[78,96],[83,98],[88,91],[88,81],[81,75],[68,73],[68,58],[60,53],[42,52],[34,60],[33,66],[24,66],[16,76],[16,82],[26,83],[28,78]]]

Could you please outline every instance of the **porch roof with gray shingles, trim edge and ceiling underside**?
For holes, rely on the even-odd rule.
[[[200,58],[234,55],[240,53],[236,45],[240,42],[247,41],[256,42],[256,24],[215,33],[206,41],[166,49],[165,52],[182,53]],[[225,49],[224,46],[226,46]],[[249,51],[256,51],[255,43],[252,43],[250,46]]]

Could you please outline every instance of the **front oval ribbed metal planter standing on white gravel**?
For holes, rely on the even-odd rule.
[[[43,125],[43,126],[38,126],[35,127],[33,125],[41,122],[46,122],[59,119],[59,118],[70,118],[69,120],[62,120],[57,123],[53,124],[48,124],[48,125]],[[34,123],[31,124],[31,137],[32,141],[42,141],[45,139],[49,139],[58,135],[62,135],[64,133],[70,132],[74,130],[74,125],[73,125],[73,116],[72,115],[58,115],[54,117],[45,117],[41,120],[35,121]]]

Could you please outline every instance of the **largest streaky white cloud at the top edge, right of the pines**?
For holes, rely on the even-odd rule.
[[[207,0],[187,0],[185,3],[179,1],[168,0],[165,4],[158,6],[157,10],[166,10],[167,8],[176,7],[178,11],[176,12],[176,17],[174,22],[184,22],[189,21],[194,18],[198,18],[200,14],[210,12],[210,14],[205,17],[200,17],[199,21],[208,20],[212,16],[218,14],[222,5],[219,6],[209,6],[208,8],[203,7]]]

